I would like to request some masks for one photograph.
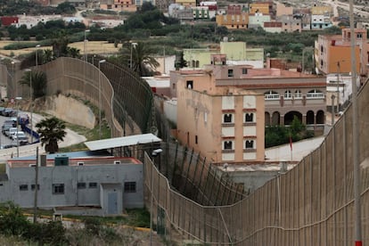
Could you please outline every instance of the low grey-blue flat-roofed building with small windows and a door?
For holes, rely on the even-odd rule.
[[[9,160],[0,181],[0,201],[21,208],[35,206],[94,207],[100,215],[120,215],[125,208],[143,207],[143,164],[132,158]]]

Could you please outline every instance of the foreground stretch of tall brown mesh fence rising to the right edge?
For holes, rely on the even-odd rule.
[[[364,86],[358,95],[364,245],[369,243],[369,98],[366,94],[369,86]],[[203,175],[210,174],[209,169],[181,167],[182,160],[191,163],[189,160],[196,159],[195,154],[184,157],[188,154],[185,149],[182,153],[172,151],[169,160],[177,165],[170,167],[176,167],[177,171],[168,170],[167,177],[161,174],[166,170],[160,173],[157,168],[158,160],[146,155],[146,205],[151,208],[155,222],[166,226],[168,238],[175,234],[172,229],[176,228],[181,239],[207,245],[350,245],[355,242],[351,146],[349,107],[326,135],[324,143],[296,168],[270,180],[242,201],[231,198],[230,205],[225,206],[217,205],[229,201],[230,195],[226,192],[214,195],[222,193],[224,188],[220,187],[221,182],[211,184],[211,175]],[[190,186],[198,191],[186,197],[181,193],[188,192],[183,188],[188,184],[194,184]]]

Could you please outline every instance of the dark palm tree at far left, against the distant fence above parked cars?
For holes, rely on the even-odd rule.
[[[27,86],[32,84],[32,99],[42,97],[46,94],[47,78],[44,71],[27,71],[18,83]]]

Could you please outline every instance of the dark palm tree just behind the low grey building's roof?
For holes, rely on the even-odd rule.
[[[36,127],[37,133],[40,135],[41,144],[45,144],[45,152],[58,152],[58,141],[62,141],[64,136],[67,135],[64,122],[53,116],[42,119],[36,124]]]

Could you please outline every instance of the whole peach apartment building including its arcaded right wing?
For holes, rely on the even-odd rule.
[[[264,161],[265,126],[324,129],[325,78],[250,65],[225,65],[212,55],[204,70],[170,74],[177,98],[179,141],[213,162]]]

